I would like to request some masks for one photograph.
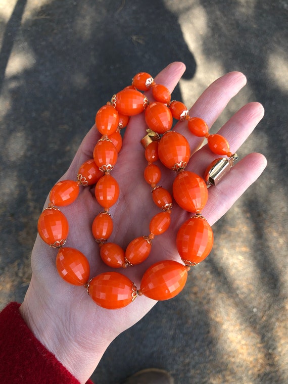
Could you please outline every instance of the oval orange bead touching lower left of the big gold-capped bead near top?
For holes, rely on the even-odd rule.
[[[95,124],[103,135],[111,135],[119,125],[118,112],[112,105],[105,105],[97,112]]]

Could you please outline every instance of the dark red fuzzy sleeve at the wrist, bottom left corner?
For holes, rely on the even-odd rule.
[[[33,335],[10,303],[0,313],[0,382],[5,384],[79,384]],[[91,380],[87,384],[93,384]]]

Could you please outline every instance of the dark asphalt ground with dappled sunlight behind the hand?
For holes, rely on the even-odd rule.
[[[288,382],[287,21],[285,0],[0,1],[0,306],[21,302],[46,195],[95,112],[139,71],[187,70],[173,98],[190,106],[222,74],[248,84],[221,115],[261,102],[238,151],[268,167],[214,226],[215,246],[175,299],[120,335],[92,379],[147,367],[176,383]]]

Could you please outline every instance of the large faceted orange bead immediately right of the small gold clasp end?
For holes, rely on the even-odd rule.
[[[158,146],[159,159],[167,168],[172,169],[180,162],[187,163],[190,147],[186,138],[178,132],[167,132],[161,137]]]

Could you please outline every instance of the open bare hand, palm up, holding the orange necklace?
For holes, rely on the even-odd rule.
[[[160,72],[155,81],[172,92],[184,70],[182,63],[172,63]],[[239,72],[226,74],[204,91],[189,115],[202,117],[211,127],[245,83],[245,76]],[[152,100],[151,92],[147,92],[147,95]],[[262,117],[263,107],[258,103],[250,103],[236,112],[220,129],[219,133],[227,138],[232,153],[237,151]],[[191,153],[194,153],[199,148],[201,138],[190,134],[185,126],[185,122],[179,122],[174,129],[185,135]],[[140,140],[146,134],[146,128],[143,114],[130,118],[117,164],[112,171],[120,186],[120,197],[110,209],[114,231],[109,241],[124,249],[131,239],[149,234],[149,222],[159,212],[151,199],[151,188],[143,178],[147,161]],[[94,145],[100,137],[101,134],[93,126],[61,179],[75,180],[79,166],[92,158]],[[203,175],[207,165],[217,157],[204,146],[194,153],[186,169]],[[262,155],[250,154],[238,161],[217,187],[209,188],[208,203],[202,213],[211,225],[258,178],[265,165],[266,160]],[[171,190],[173,172],[164,167],[161,167],[161,171],[159,184]],[[99,247],[91,233],[92,221],[103,208],[95,201],[93,187],[80,189],[77,200],[71,206],[61,208],[69,222],[66,245],[76,248],[87,257],[90,276],[93,277],[110,270],[100,259]],[[45,207],[48,203],[47,199]],[[155,237],[149,258],[140,265],[121,270],[138,288],[143,273],[156,261],[179,261],[175,246],[176,233],[190,214],[175,205],[171,215],[169,229]],[[37,236],[31,259],[32,279],[20,311],[37,339],[82,383],[89,378],[112,340],[140,320],[156,301],[141,296],[123,309],[103,309],[95,305],[83,287],[70,285],[60,278],[55,267],[56,254],[56,250],[47,247]]]

